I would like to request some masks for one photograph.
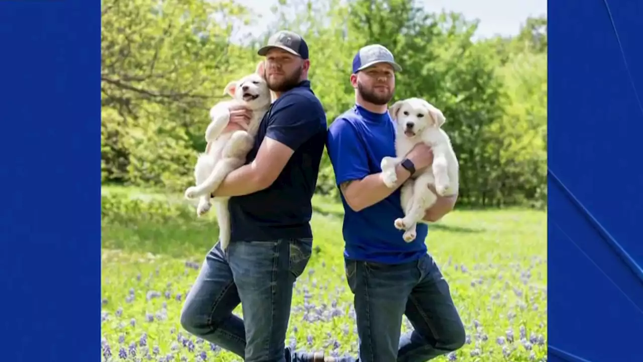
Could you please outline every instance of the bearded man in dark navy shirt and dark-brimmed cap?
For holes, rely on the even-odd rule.
[[[305,41],[278,32],[259,50],[277,99],[261,121],[246,165],[214,192],[230,198],[231,237],[208,253],[181,312],[183,328],[246,362],[317,361],[285,347],[293,283],[312,250],[311,198],[327,135],[307,80]],[[230,110],[232,123],[248,110]],[[241,319],[232,311],[241,303]],[[321,357],[323,359],[323,356]]]

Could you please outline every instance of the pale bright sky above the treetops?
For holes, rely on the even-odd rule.
[[[271,14],[270,8],[277,0],[237,0],[237,3],[262,14]],[[478,33],[475,35],[478,39],[516,35],[527,17],[547,15],[547,0],[419,0],[419,3],[430,12],[444,9],[460,12],[469,20],[479,19]],[[261,19],[253,28],[257,29],[257,33],[262,33],[268,23],[269,19]],[[244,28],[244,32],[253,32],[253,28]]]

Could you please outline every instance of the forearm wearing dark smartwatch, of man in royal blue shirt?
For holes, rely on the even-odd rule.
[[[344,182],[340,185],[341,193],[351,209],[361,211],[387,198],[411,176],[404,167],[399,165],[395,166],[395,173],[397,174],[395,187],[386,186],[381,173],[374,173],[361,180]]]

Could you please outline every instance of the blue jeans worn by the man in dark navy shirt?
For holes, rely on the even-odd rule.
[[[285,348],[293,283],[311,257],[311,239],[219,243],[208,253],[181,311],[195,336],[246,362],[309,361]],[[232,311],[241,303],[244,319]]]

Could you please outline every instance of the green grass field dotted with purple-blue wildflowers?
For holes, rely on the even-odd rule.
[[[217,240],[215,220],[197,220],[181,195],[118,187],[102,192],[103,360],[239,361],[179,325],[185,294]],[[355,354],[343,211],[321,197],[314,208],[314,253],[296,283],[286,343]],[[467,344],[437,361],[546,360],[546,223],[542,211],[512,209],[454,211],[430,225],[426,243],[467,329]],[[321,310],[318,317],[308,315],[304,295],[312,310]],[[331,314],[331,306],[341,313]],[[241,315],[240,307],[235,313]],[[408,328],[406,320],[403,325]]]

